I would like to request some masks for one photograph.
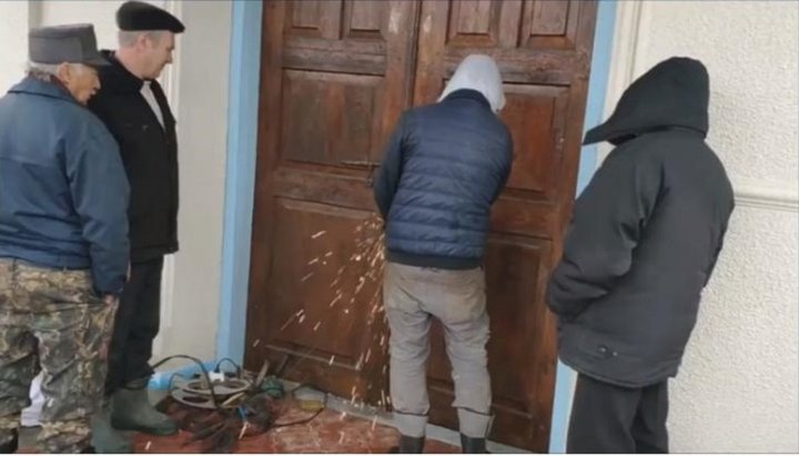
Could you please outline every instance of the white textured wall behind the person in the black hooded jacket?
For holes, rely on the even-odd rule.
[[[737,209],[679,376],[674,452],[799,452],[799,3],[619,2],[607,112],[671,55],[710,72],[709,144]],[[607,148],[605,148],[607,151]]]

